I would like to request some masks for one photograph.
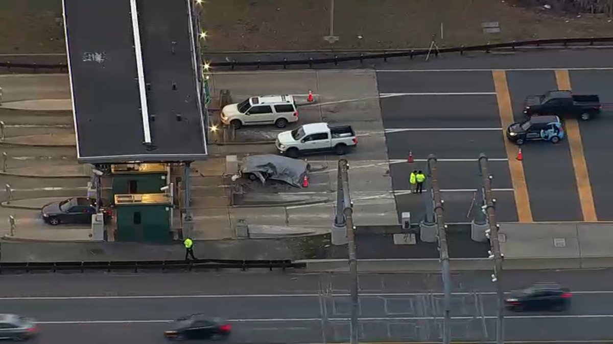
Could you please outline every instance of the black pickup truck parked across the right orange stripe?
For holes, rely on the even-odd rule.
[[[571,91],[549,91],[543,95],[528,95],[524,102],[524,114],[535,116],[552,114],[560,117],[577,116],[587,121],[602,110],[596,94],[576,95]]]

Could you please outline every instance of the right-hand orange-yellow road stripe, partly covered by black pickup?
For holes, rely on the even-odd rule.
[[[571,88],[571,77],[567,69],[555,70],[555,81],[558,84],[559,90],[568,90]],[[596,207],[594,206],[594,196],[592,193],[592,184],[590,184],[590,174],[587,171],[587,163],[585,162],[585,154],[583,151],[583,143],[581,141],[581,130],[577,119],[565,119],[566,137],[568,137],[568,145],[571,149],[571,159],[573,160],[573,168],[575,171],[575,179],[577,181],[577,190],[579,191],[579,201],[581,202],[581,212],[583,220],[587,222],[596,222]]]

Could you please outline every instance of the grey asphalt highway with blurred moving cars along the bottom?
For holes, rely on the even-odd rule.
[[[549,280],[574,293],[565,312],[506,313],[507,340],[611,340],[613,290],[605,286],[613,271],[505,277],[506,290]],[[229,319],[232,343],[344,342],[348,282],[345,274],[18,275],[0,277],[0,308],[36,318],[39,343],[164,343],[169,321],[190,313]],[[454,339],[492,340],[496,299],[487,272],[455,274],[453,283]],[[440,340],[440,275],[365,274],[360,288],[363,340]]]

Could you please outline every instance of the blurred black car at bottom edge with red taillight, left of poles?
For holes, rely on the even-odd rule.
[[[220,318],[193,314],[177,319],[172,328],[164,332],[169,340],[226,340],[232,326]]]

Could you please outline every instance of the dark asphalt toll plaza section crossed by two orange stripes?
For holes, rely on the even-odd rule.
[[[613,219],[613,185],[606,172],[613,168],[607,157],[613,70],[378,70],[377,81],[398,212],[423,218],[424,197],[406,191],[408,175],[426,171],[425,159],[435,154],[444,219],[471,222],[478,209],[475,190],[481,187],[477,159],[484,153],[492,160],[498,221]],[[587,122],[567,118],[565,140],[527,143],[523,161],[516,161],[519,148],[502,130],[525,119],[527,95],[556,89],[600,95],[603,114]],[[506,101],[508,110],[501,105]],[[409,151],[414,163],[406,163]]]

